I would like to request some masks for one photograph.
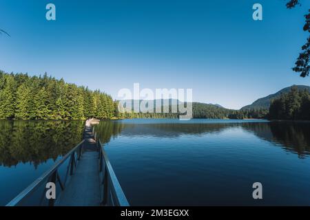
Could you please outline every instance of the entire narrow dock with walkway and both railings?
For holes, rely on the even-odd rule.
[[[97,120],[93,124],[96,123]],[[56,186],[55,199],[46,197],[45,185],[50,182]],[[84,140],[7,206],[129,206],[129,203],[92,122],[87,120]]]

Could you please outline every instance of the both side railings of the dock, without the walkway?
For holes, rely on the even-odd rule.
[[[94,127],[92,127],[94,140],[96,141],[96,148],[99,151],[99,180],[101,187],[101,204],[103,206],[130,206],[121,185],[116,178],[110,160],[103,149],[103,144],[97,137]],[[56,198],[61,194],[65,187],[68,185],[68,178],[73,175],[76,164],[83,154],[83,144],[85,140],[76,145],[69,153],[67,153],[59,162],[56,162],[52,168],[43,173],[41,177],[36,179],[30,186],[25,188],[17,197],[12,199],[6,206],[54,206],[56,199],[46,199],[48,182],[52,182],[56,186]],[[61,178],[59,170],[67,164],[64,171],[65,175]],[[58,190],[60,188],[61,190]]]

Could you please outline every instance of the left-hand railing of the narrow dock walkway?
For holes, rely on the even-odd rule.
[[[74,173],[76,164],[83,154],[83,143],[84,140],[77,144],[61,160],[56,162],[52,168],[43,173],[41,177],[32,182],[30,186],[25,188],[25,190],[19,193],[6,206],[54,206],[56,199],[46,199],[45,193],[48,188],[45,188],[45,186],[48,182],[52,182],[56,186],[56,192],[60,191],[59,193],[61,193],[61,191],[65,190],[68,177]],[[65,170],[65,177],[61,179],[59,170],[63,168],[62,165],[64,164],[68,164],[68,166]],[[57,188],[61,188],[61,190],[57,190]]]

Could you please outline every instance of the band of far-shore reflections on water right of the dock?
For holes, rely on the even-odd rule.
[[[201,120],[200,120],[201,121]],[[285,151],[297,153],[300,158],[310,153],[310,123],[309,122],[238,122],[223,123],[175,123],[171,120],[168,123],[135,123],[128,121],[104,121],[96,126],[96,131],[103,143],[110,142],[111,137],[118,135],[125,136],[152,136],[152,137],[179,137],[180,135],[203,135],[206,133],[220,133],[226,129],[241,128],[245,131],[254,133],[262,140],[282,146]],[[202,122],[202,121],[201,121]]]

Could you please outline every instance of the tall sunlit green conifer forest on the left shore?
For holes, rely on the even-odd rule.
[[[112,118],[112,97],[47,76],[0,72],[0,119]]]

